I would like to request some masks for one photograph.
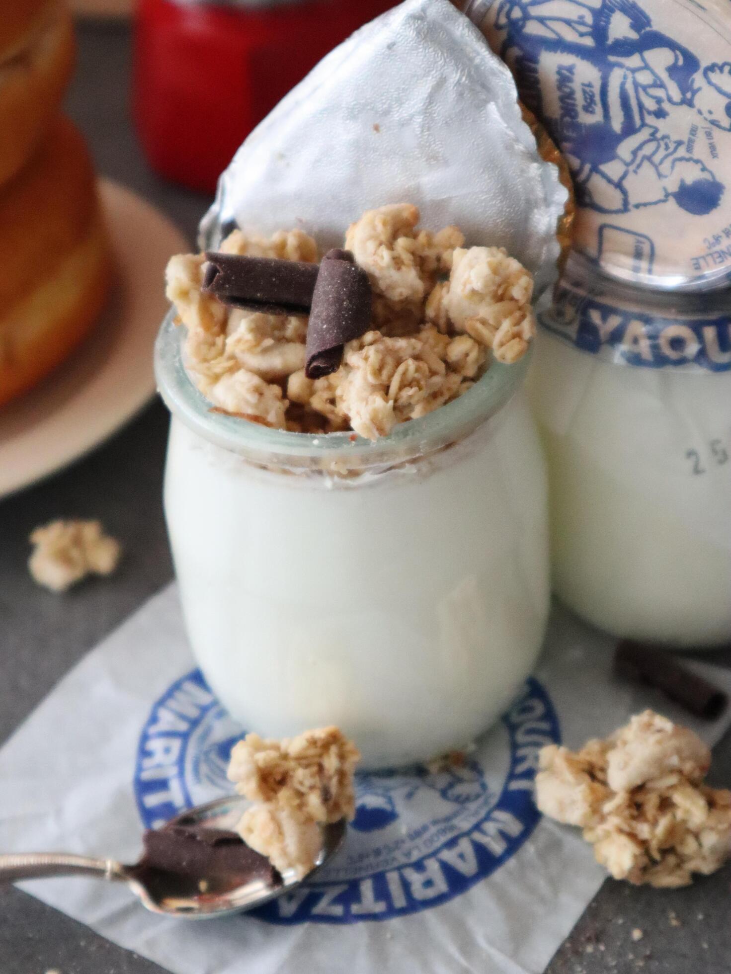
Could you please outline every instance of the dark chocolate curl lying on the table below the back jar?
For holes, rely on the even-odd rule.
[[[708,680],[683,666],[667,650],[625,639],[614,653],[614,672],[635,683],[666,693],[689,713],[715,720],[725,710],[728,697]]]

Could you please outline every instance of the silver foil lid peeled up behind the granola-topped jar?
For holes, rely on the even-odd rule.
[[[236,224],[294,227],[342,246],[361,213],[419,206],[430,230],[456,224],[468,245],[501,245],[556,278],[567,202],[538,153],[515,82],[449,0],[407,0],[323,58],[243,143],[201,222],[201,246]]]

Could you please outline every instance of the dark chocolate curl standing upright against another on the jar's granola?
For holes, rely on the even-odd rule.
[[[312,294],[305,374],[319,379],[337,371],[343,349],[371,323],[371,285],[349,250],[328,250]]]

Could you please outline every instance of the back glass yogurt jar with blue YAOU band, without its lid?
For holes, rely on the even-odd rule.
[[[538,316],[554,588],[618,636],[731,640],[728,301],[623,287],[573,256]]]

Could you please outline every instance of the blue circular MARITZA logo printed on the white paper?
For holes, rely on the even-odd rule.
[[[245,733],[200,670],[176,681],[142,729],[134,792],[147,828],[231,794],[229,754]],[[273,923],[355,923],[454,899],[510,859],[540,818],[538,751],[560,742],[543,687],[530,678],[493,731],[459,765],[357,776],[347,843],[316,881],[254,911]]]

